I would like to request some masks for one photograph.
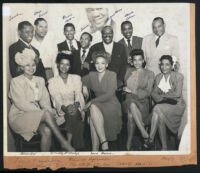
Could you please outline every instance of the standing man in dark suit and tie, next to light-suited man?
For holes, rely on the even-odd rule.
[[[143,38],[133,36],[133,25],[130,21],[124,21],[121,24],[121,33],[124,36],[118,43],[124,45],[126,54],[127,54],[127,62],[131,63],[130,52],[133,49],[141,49]]]

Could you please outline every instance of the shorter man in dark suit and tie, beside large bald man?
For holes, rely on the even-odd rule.
[[[90,70],[90,62],[88,61],[88,53],[90,44],[92,42],[92,35],[84,32],[80,37],[81,48],[76,50],[73,55],[72,73],[78,74],[81,77],[88,74]]]

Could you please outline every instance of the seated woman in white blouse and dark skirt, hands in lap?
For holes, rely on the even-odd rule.
[[[85,101],[81,77],[70,74],[73,56],[59,53],[56,63],[59,75],[49,80],[49,92],[59,117],[64,117],[68,142],[76,150],[84,150]]]

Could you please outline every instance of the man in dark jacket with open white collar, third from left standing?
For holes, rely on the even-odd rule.
[[[75,26],[72,23],[66,23],[64,26],[66,40],[57,45],[59,52],[73,53],[81,47],[80,42],[74,38],[75,33]]]

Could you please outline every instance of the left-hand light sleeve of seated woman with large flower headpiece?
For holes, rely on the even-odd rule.
[[[14,78],[15,79],[15,78]],[[41,110],[34,103],[27,101],[26,95],[23,90],[23,85],[20,81],[11,80],[9,97],[12,99],[13,104],[22,111],[38,111]]]

